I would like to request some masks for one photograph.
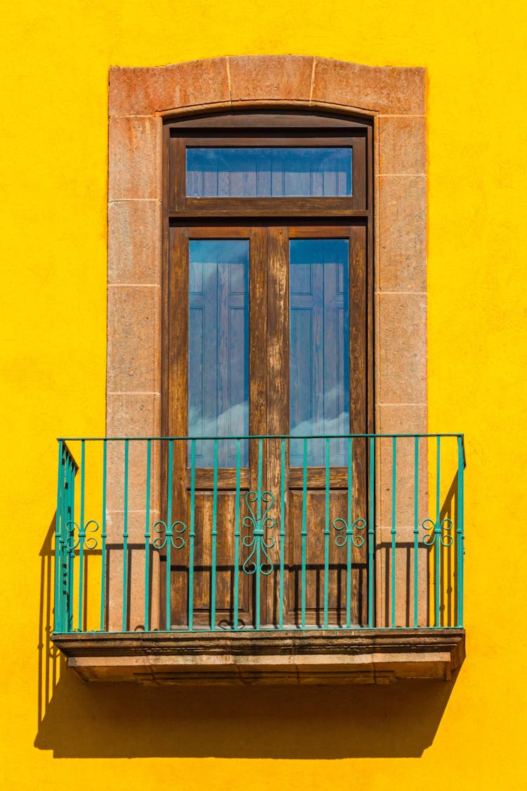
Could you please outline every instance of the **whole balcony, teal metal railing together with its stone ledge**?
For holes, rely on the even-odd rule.
[[[465,652],[461,434],[59,441],[83,679],[390,683]]]

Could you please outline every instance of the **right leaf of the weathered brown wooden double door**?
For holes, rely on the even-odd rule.
[[[366,371],[367,316],[362,309],[366,305],[366,236],[362,229],[357,234],[356,227],[304,226],[282,231],[280,239],[282,259],[287,261],[280,283],[288,282],[280,314],[275,314],[275,319],[269,312],[268,329],[269,338],[273,338],[280,327],[283,331],[284,325],[289,325],[287,341],[283,335],[281,338],[280,380],[287,383],[288,392],[277,410],[277,433],[365,433],[366,387],[362,383],[357,387],[350,378],[362,377]],[[357,289],[362,292],[360,297],[354,293]],[[271,301],[269,292],[269,305]],[[351,392],[359,395],[352,412]],[[288,408],[284,407],[286,400]],[[304,475],[304,442],[289,443],[284,472],[284,625],[366,623],[366,450],[365,440],[333,439],[327,447],[323,439],[309,439]],[[275,450],[274,459],[277,455]],[[273,463],[273,470],[269,488],[277,494],[276,537],[280,524],[279,462]],[[359,521],[352,541],[346,527],[355,520]],[[279,555],[277,546],[273,552],[276,569]],[[267,586],[269,625],[276,626],[278,573],[268,578]]]

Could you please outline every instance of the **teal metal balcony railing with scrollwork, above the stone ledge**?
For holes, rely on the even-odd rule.
[[[462,434],[60,439],[55,633],[460,628],[464,471]]]

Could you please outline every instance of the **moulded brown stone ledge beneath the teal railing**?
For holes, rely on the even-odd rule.
[[[87,682],[145,684],[391,683],[450,679],[462,629],[54,634]]]

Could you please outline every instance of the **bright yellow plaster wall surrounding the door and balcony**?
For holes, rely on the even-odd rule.
[[[3,4],[3,788],[527,784],[524,6]],[[427,68],[429,426],[467,434],[468,657],[454,685],[54,684],[54,437],[104,433],[108,67],[261,53]]]

